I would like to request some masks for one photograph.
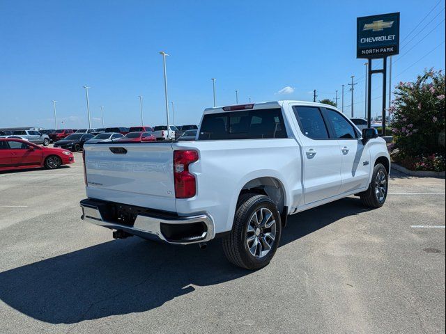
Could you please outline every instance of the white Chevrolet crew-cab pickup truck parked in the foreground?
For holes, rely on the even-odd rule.
[[[84,166],[85,221],[115,238],[222,237],[229,261],[259,269],[288,215],[354,194],[382,206],[390,158],[334,107],[279,101],[206,109],[195,141],[86,143]]]

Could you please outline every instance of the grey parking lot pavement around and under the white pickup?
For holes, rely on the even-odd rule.
[[[396,172],[380,209],[351,197],[291,216],[252,272],[218,241],[113,240],[84,223],[75,159],[0,174],[1,333],[445,332],[444,179]]]

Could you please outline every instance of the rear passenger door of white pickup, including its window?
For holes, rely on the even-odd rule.
[[[341,152],[330,138],[322,111],[316,106],[293,106],[303,150],[305,204],[339,194]]]

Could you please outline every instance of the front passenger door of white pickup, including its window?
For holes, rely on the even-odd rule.
[[[323,114],[330,129],[330,136],[339,143],[342,157],[340,193],[364,188],[369,182],[370,150],[363,145],[361,135],[346,117],[333,109],[324,109]]]

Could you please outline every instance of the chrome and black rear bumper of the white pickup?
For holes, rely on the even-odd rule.
[[[86,199],[80,202],[82,220],[112,230],[123,230],[144,239],[160,239],[169,244],[195,244],[215,237],[213,219],[207,214],[178,216],[142,207],[121,205],[103,200]],[[133,223],[121,223],[120,209],[125,216],[133,212]]]

